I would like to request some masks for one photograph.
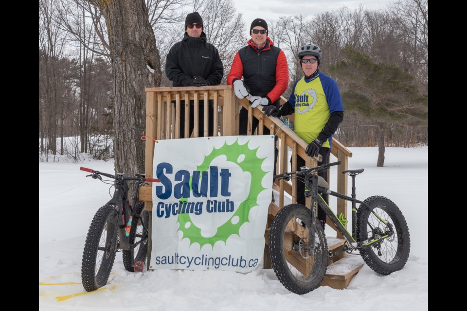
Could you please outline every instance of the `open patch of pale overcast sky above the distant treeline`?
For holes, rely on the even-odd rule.
[[[263,18],[268,23],[283,15],[303,14],[311,17],[317,13],[338,10],[346,6],[353,10],[361,4],[367,9],[385,9],[389,3],[396,0],[235,0],[237,13],[243,13],[243,19],[250,31],[253,19]]]

